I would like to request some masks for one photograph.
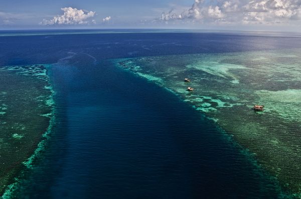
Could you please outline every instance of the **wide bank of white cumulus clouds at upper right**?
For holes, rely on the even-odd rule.
[[[162,12],[156,21],[271,24],[300,19],[301,0],[195,0],[181,13]]]

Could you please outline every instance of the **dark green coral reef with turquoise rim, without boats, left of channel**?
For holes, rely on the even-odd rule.
[[[5,90],[0,92],[0,162],[5,162],[0,169],[0,194],[6,190],[4,198],[10,197],[17,176],[35,159],[54,119],[54,91],[47,67],[0,67],[0,90]]]

